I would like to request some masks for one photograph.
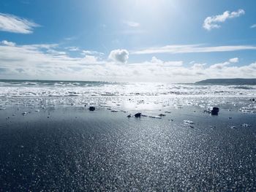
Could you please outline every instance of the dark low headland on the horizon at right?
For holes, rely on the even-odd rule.
[[[254,79],[207,79],[195,82],[195,84],[217,84],[217,85],[256,85],[256,78]]]

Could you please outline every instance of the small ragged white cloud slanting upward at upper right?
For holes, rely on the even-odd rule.
[[[241,15],[244,15],[245,11],[244,9],[238,9],[237,12],[229,12],[225,11],[222,15],[215,15],[211,17],[207,17],[204,20],[203,28],[206,28],[206,30],[211,31],[213,28],[220,28],[219,23],[224,23],[227,19],[232,18],[238,18]]]

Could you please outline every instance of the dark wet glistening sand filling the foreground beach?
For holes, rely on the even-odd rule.
[[[162,119],[127,115],[0,110],[1,191],[256,191],[255,114],[188,107]]]

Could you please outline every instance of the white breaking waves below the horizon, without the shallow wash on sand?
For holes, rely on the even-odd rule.
[[[0,96],[255,96],[256,85],[0,80]]]

